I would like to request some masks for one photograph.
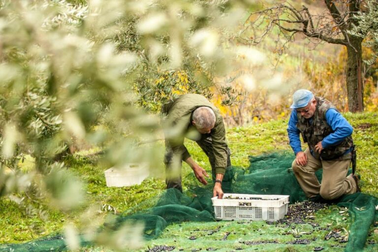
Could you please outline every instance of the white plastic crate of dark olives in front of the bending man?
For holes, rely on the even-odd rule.
[[[239,199],[225,199],[228,196]],[[288,195],[224,193],[222,199],[213,197],[211,200],[215,218],[225,221],[278,221],[284,218],[289,204]]]

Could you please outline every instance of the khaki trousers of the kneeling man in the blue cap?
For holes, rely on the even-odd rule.
[[[306,196],[311,198],[320,194],[323,199],[336,199],[344,194],[355,193],[356,183],[351,176],[347,176],[351,159],[321,160],[311,155],[306,149],[307,165],[301,166],[294,160],[292,169],[295,177]],[[316,178],[315,171],[323,168],[321,184]]]

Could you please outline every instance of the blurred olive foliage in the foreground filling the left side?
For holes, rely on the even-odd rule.
[[[0,196],[42,219],[51,207],[88,213],[82,181],[62,161],[74,145],[104,150],[105,167],[159,163],[159,120],[140,104],[158,111],[172,93],[206,93],[216,77],[258,70],[263,54],[228,40],[246,4],[0,1]],[[170,87],[177,78],[182,84]],[[35,161],[22,170],[26,155]],[[73,250],[75,228],[66,230]],[[117,237],[133,237],[122,230]],[[97,238],[89,232],[105,242]]]

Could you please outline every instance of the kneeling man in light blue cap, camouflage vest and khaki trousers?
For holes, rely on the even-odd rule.
[[[328,100],[308,90],[294,93],[287,133],[296,156],[294,175],[310,199],[326,200],[359,191],[358,177],[347,176],[351,162],[352,126]],[[308,148],[303,152],[299,134]],[[323,169],[321,184],[315,171]]]

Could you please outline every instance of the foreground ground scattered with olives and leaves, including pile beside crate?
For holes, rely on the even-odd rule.
[[[344,251],[346,213],[335,205],[304,201],[289,205],[279,221],[175,223],[141,251]],[[373,228],[369,238],[366,251],[376,251],[378,233]]]

